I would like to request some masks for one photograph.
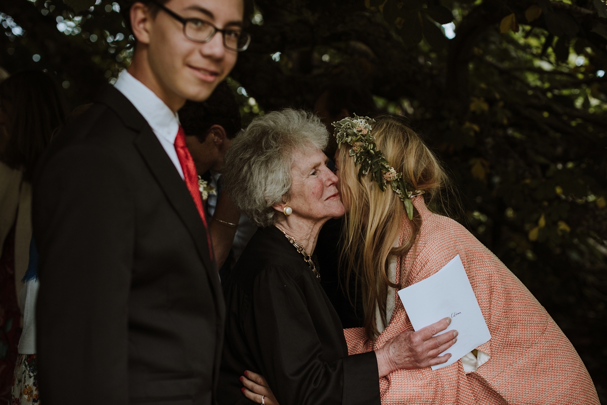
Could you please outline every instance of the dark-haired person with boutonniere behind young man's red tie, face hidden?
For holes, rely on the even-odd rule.
[[[215,260],[220,277],[225,280],[257,230],[257,226],[239,213],[228,193],[222,192],[223,160],[241,129],[240,108],[228,83],[223,82],[208,100],[186,102],[179,111],[179,120],[201,177],[206,213],[212,219],[209,232]]]

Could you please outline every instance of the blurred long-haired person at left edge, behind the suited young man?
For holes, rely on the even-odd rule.
[[[30,181],[65,117],[58,86],[47,73],[24,71],[0,83],[0,328],[4,331],[0,341],[0,400],[4,403],[9,396],[11,403],[38,400],[38,274]]]

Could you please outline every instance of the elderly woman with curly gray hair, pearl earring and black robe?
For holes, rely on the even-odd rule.
[[[443,319],[396,336],[382,349],[348,356],[337,313],[319,284],[320,227],[342,216],[337,177],[322,149],[328,133],[293,109],[258,117],[226,155],[231,199],[260,229],[225,282],[226,332],[217,400],[271,405],[243,396],[246,370],[260,373],[280,404],[379,404],[379,378],[396,369],[447,361],[455,341]]]

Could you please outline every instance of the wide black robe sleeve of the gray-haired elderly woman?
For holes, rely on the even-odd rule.
[[[375,352],[323,361],[306,298],[287,270],[262,271],[252,301],[262,373],[281,405],[379,405]]]

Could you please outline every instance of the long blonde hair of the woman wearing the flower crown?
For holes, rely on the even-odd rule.
[[[447,175],[432,151],[403,118],[381,115],[373,125],[373,136],[388,163],[403,174],[413,189],[424,191],[428,205],[436,205],[437,202],[439,206],[443,205],[441,189],[449,183]],[[345,285],[350,285],[351,277],[358,278],[356,285],[362,289],[365,331],[369,339],[375,339],[378,335],[376,307],[384,326],[387,325],[390,321],[386,319],[388,288],[399,287],[388,277],[388,259],[390,256],[404,256],[415,245],[421,216],[414,208],[413,219],[410,220],[411,237],[402,246],[394,248],[393,242],[401,233],[403,220],[409,220],[404,205],[389,185],[381,191],[368,175],[359,181],[359,168],[349,151],[349,145],[342,145],[337,154],[341,194],[347,206],[341,268],[346,273]],[[406,277],[401,282],[405,280]]]

